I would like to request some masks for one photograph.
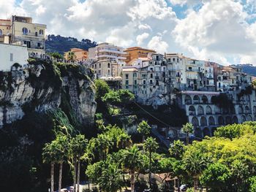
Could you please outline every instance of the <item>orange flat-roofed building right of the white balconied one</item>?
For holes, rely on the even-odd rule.
[[[125,60],[127,65],[129,65],[130,61],[133,61],[135,59],[147,58],[148,53],[156,53],[156,51],[154,50],[148,50],[142,47],[129,47],[126,50],[124,50],[124,52],[127,53]]]

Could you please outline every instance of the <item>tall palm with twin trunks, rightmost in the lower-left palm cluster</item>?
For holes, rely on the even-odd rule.
[[[76,183],[78,183],[78,191],[79,191],[79,185],[80,185],[80,161],[83,157],[84,153],[86,152],[86,146],[87,146],[87,139],[84,135],[78,134],[74,138],[71,139],[71,148],[72,148],[72,157],[74,162],[74,191]],[[76,178],[76,175],[78,174],[78,177]],[[76,182],[77,181],[77,182]]]

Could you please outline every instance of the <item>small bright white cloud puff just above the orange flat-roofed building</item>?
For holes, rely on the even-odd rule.
[[[148,48],[152,50],[157,50],[158,53],[166,53],[168,47],[169,45],[167,44],[167,42],[163,41],[162,37],[160,36],[154,36],[148,42]]]

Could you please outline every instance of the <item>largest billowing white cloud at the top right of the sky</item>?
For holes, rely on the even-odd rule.
[[[254,54],[256,45],[247,34],[248,15],[243,8],[239,2],[231,0],[223,0],[221,4],[218,0],[204,2],[198,12],[193,10],[187,18],[178,21],[173,31],[176,43],[197,58],[226,64],[230,56]],[[253,34],[255,28],[250,31]]]

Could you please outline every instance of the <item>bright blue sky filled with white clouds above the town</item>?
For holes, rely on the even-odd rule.
[[[256,65],[256,0],[0,0],[0,18],[12,14],[48,34]]]

